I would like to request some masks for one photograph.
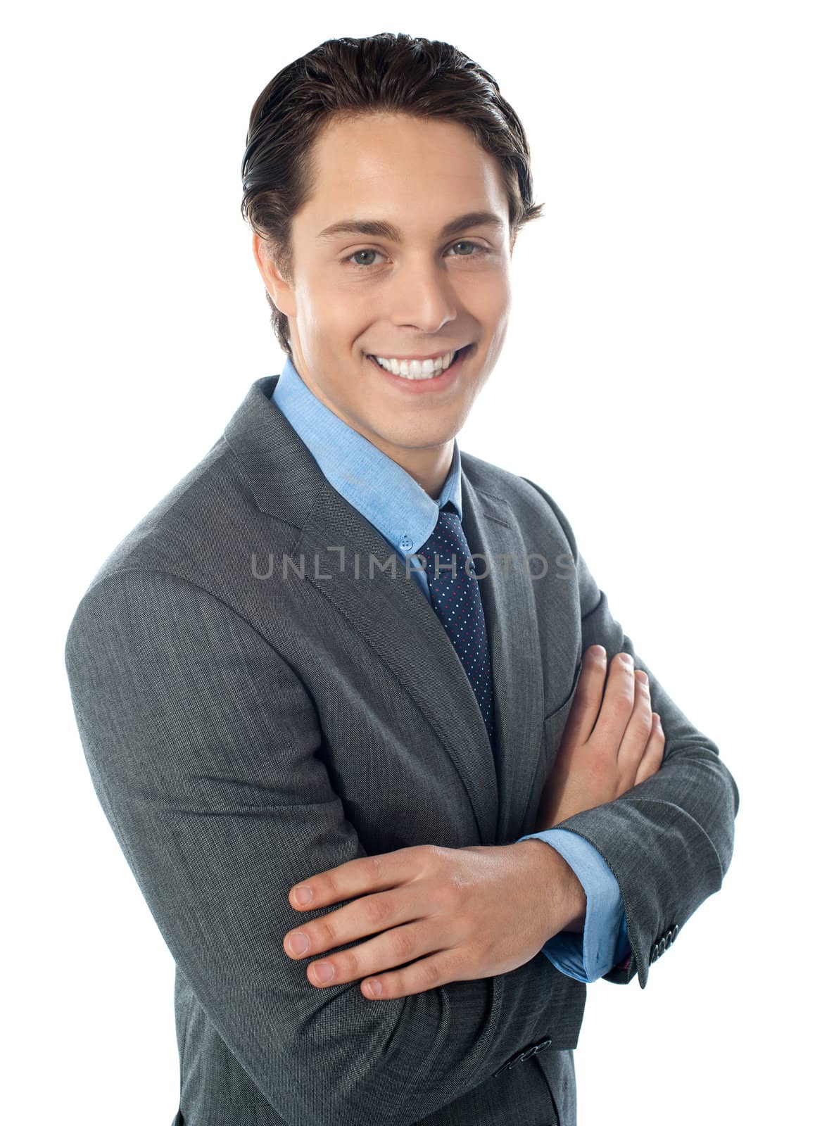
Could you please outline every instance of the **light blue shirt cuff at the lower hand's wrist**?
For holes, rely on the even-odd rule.
[[[586,921],[581,935],[561,930],[543,946],[546,958],[579,982],[596,982],[625,958],[622,924],[625,919],[619,885],[596,848],[568,829],[542,829],[520,837],[537,838],[556,849],[573,869],[586,893]]]

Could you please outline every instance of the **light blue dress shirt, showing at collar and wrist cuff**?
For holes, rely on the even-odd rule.
[[[456,440],[448,476],[435,501],[410,473],[321,402],[291,358],[286,358],[271,401],[309,447],[328,482],[381,533],[403,562],[426,543],[447,501],[452,501],[462,520]],[[410,564],[410,573],[430,601],[428,578],[417,561]],[[578,833],[546,829],[519,840],[529,838],[539,838],[560,852],[587,896],[583,933],[561,931],[545,944],[543,954],[570,977],[593,982],[631,951],[619,885],[605,859]]]

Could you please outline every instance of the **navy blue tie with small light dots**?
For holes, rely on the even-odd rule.
[[[473,560],[466,566],[471,548],[459,513],[452,501],[447,501],[439,510],[436,528],[416,555],[425,558],[431,604],[474,689],[493,749],[491,654],[480,598],[480,580],[474,572]]]

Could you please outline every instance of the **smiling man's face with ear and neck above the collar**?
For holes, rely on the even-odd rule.
[[[463,125],[381,114],[331,122],[316,182],[292,222],[293,285],[254,235],[268,292],[288,316],[294,365],[339,418],[420,480],[447,472],[453,438],[508,325],[510,231],[499,166]],[[489,213],[448,224],[468,213]],[[394,232],[324,233],[343,221]],[[369,358],[466,349],[409,379]],[[423,369],[425,372],[425,369]]]

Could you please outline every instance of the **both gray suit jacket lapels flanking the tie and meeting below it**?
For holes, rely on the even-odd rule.
[[[258,506],[300,529],[289,552],[295,572],[366,638],[430,724],[463,780],[482,843],[510,843],[520,835],[539,757],[543,667],[533,582],[509,504],[474,489],[463,464],[463,528],[472,552],[488,558],[488,565],[482,557],[475,563],[479,574],[486,570],[480,591],[493,676],[494,762],[476,697],[434,607],[402,557],[327,481],[270,402],[275,382],[258,379],[225,430]]]

